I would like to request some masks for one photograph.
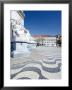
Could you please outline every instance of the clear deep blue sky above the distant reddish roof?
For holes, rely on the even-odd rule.
[[[61,11],[24,11],[24,26],[31,35],[61,34]]]

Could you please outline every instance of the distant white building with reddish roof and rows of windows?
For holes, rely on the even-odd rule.
[[[56,36],[34,35],[33,37],[40,46],[56,46]]]

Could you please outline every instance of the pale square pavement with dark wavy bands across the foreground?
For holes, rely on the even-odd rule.
[[[11,58],[11,79],[61,79],[61,48],[37,47],[28,56]]]

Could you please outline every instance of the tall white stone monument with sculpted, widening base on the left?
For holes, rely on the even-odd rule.
[[[25,14],[23,11],[11,10],[10,29],[11,29],[11,56],[30,53],[29,48],[35,48],[36,42],[29,30],[24,26]]]

